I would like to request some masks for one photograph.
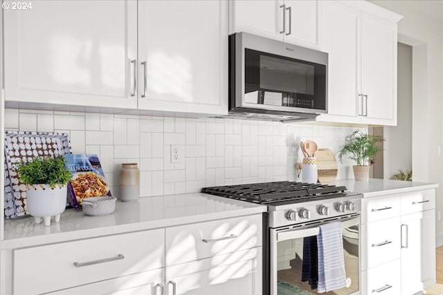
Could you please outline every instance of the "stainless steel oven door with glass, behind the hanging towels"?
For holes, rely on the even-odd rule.
[[[309,239],[316,238],[319,226],[327,222],[341,222],[346,287],[322,294],[349,295],[360,293],[360,216],[350,214],[339,218],[270,229],[271,294],[318,294],[303,272],[303,261],[309,259]]]

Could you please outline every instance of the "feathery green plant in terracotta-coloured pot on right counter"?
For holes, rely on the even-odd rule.
[[[368,180],[370,165],[374,164],[375,155],[381,149],[377,146],[377,142],[383,142],[383,137],[379,135],[368,135],[361,133],[358,129],[347,135],[345,144],[338,152],[340,162],[343,162],[343,157],[348,157],[356,161],[353,166],[355,180]]]

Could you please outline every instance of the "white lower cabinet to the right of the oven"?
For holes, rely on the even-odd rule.
[[[412,295],[435,283],[433,189],[363,199],[362,212],[363,294]]]

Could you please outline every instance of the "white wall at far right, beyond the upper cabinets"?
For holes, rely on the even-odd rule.
[[[371,2],[404,16],[399,41],[413,45],[413,179],[440,184],[436,205],[443,211],[443,157],[437,153],[443,145],[443,3]],[[424,5],[433,9],[426,12]],[[443,220],[437,220],[436,231],[437,245],[443,245]]]

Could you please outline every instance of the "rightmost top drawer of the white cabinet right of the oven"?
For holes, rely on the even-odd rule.
[[[413,191],[401,194],[401,215],[435,209],[435,191]]]

